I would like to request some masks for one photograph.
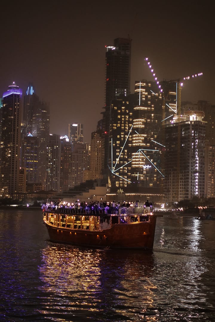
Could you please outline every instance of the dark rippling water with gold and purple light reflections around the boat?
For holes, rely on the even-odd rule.
[[[214,321],[214,221],[158,218],[151,254],[51,243],[34,211],[0,220],[0,321]]]

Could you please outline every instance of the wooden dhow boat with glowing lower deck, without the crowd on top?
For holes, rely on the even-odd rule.
[[[132,208],[132,209],[131,209]],[[150,207],[80,211],[43,206],[50,241],[96,248],[153,249],[156,215]]]

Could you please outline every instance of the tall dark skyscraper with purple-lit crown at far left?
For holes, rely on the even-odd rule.
[[[1,126],[1,195],[12,197],[19,191],[22,90],[13,82],[3,94]]]

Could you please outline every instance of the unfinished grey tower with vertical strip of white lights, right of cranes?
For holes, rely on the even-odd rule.
[[[203,111],[187,111],[165,124],[165,201],[172,204],[205,197],[205,132]]]

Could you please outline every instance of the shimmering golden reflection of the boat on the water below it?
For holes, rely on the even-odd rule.
[[[53,305],[55,313],[61,315],[65,310],[67,317],[71,310],[74,316],[85,314],[86,319],[95,318],[96,312],[97,321],[104,321],[104,314],[114,316],[117,321],[132,318],[134,311],[139,310],[135,308],[134,298],[138,302],[144,301],[145,309],[153,303],[156,287],[150,281],[154,266],[152,254],[55,244],[45,248],[42,257],[43,264],[39,268],[43,282],[41,291],[50,294],[46,298],[50,302],[49,311],[45,312],[44,303],[44,311],[40,311],[43,314],[50,316],[50,305]],[[138,288],[143,288],[142,298],[134,296],[133,290]],[[61,305],[52,300],[51,294],[55,299],[60,298]],[[126,312],[125,316],[123,312]]]

